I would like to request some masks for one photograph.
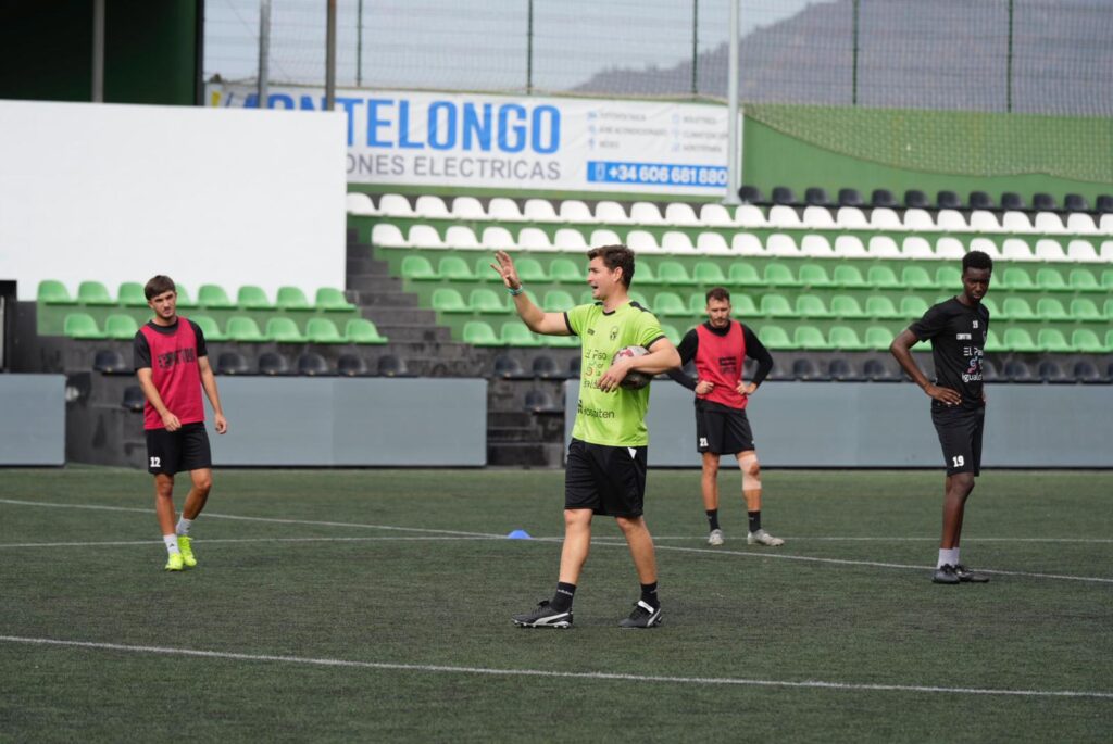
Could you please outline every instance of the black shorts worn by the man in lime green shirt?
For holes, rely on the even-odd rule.
[[[572,439],[564,468],[564,508],[640,517],[648,447],[608,447]]]

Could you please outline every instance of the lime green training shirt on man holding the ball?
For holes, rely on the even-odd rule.
[[[604,313],[602,302],[597,302],[573,307],[564,314],[564,320],[583,346],[580,403],[572,436],[611,447],[648,445],[649,386],[640,390],[619,388],[603,393],[598,385],[615,351],[627,346],[649,348],[664,337],[657,317],[637,302],[628,302],[611,313]]]

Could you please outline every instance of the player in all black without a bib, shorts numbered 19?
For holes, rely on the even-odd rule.
[[[963,257],[963,291],[928,308],[924,317],[893,339],[889,350],[909,377],[932,398],[932,423],[939,435],[947,466],[943,504],[943,539],[932,581],[936,584],[985,583],[958,561],[966,498],[982,470],[985,393],[982,357],[989,331],[989,310],[982,298],[989,289],[993,259],[972,250]],[[928,380],[912,356],[912,347],[932,341],[935,380]]]

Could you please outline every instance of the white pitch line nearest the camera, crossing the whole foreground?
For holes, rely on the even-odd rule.
[[[553,677],[573,679],[602,679],[608,682],[649,682],[679,685],[739,685],[754,687],[796,687],[808,690],[843,690],[855,692],[909,692],[944,693],[954,695],[1003,695],[1013,697],[1083,697],[1113,700],[1113,693],[1074,690],[994,690],[986,687],[940,687],[933,685],[879,685],[849,682],[823,682],[808,679],[789,682],[786,679],[748,679],[741,677],[681,677],[643,674],[614,674],[609,672],[552,672],[545,669],[499,669],[482,666],[447,666],[441,664],[393,664],[386,662],[357,662],[344,658],[313,658],[305,656],[278,656],[269,654],[238,654],[233,652],[200,651],[195,648],[170,648],[165,646],[134,646],[118,643],[93,643],[89,641],[61,641],[57,638],[28,638],[0,635],[0,642],[43,646],[68,646],[98,651],[122,651],[161,656],[193,656],[240,662],[265,662],[302,664],[308,666],[339,666],[392,672],[433,672],[446,674],[482,674],[505,677]]]

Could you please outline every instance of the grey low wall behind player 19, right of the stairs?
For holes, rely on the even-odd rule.
[[[579,380],[565,385],[571,437]],[[1113,387],[987,387],[985,467],[1113,467]],[[912,384],[766,383],[748,407],[762,465],[943,467],[929,400]],[[692,393],[652,384],[649,464],[698,467]]]

